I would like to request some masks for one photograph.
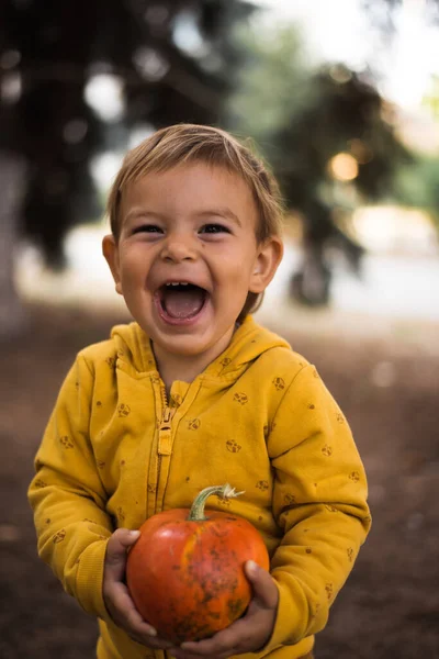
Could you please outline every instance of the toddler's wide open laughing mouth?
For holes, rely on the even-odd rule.
[[[158,290],[161,315],[169,321],[190,321],[203,310],[209,293],[205,289],[188,282],[170,282]]]

